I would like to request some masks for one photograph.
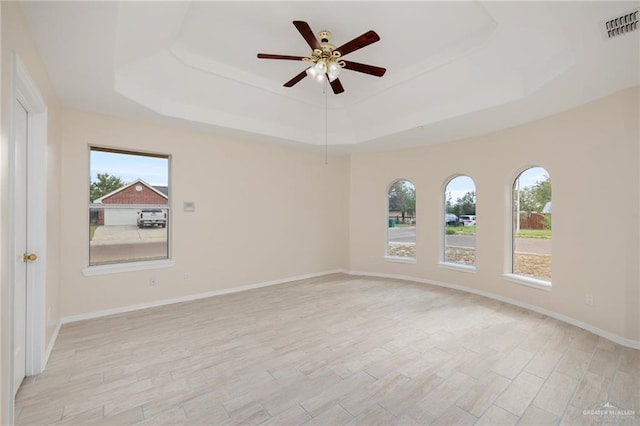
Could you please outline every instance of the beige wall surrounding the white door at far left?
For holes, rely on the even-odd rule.
[[[13,79],[13,54],[17,54],[36,84],[48,107],[48,178],[47,185],[47,288],[46,307],[48,311],[46,344],[49,344],[58,324],[59,295],[59,242],[60,242],[60,138],[59,138],[59,105],[53,93],[47,73],[29,34],[22,13],[14,2],[0,2],[2,13],[2,131],[0,139],[0,282],[2,309],[2,359],[0,369],[1,409],[0,423],[8,423],[8,391],[11,375],[9,372],[9,353],[11,347],[11,330],[9,317],[9,183],[11,181],[11,163],[9,137],[11,129],[11,99]]]

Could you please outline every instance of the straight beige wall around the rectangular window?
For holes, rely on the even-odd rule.
[[[73,110],[62,122],[63,317],[348,267],[348,158]],[[174,267],[83,275],[90,145],[171,155]]]

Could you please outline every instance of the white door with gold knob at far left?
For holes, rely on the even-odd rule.
[[[29,263],[23,257],[27,254],[27,110],[15,101],[15,182],[14,182],[14,241],[15,274],[13,284],[13,392],[18,391],[26,374],[26,331],[27,331],[27,273]]]

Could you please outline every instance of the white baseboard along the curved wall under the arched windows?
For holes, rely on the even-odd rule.
[[[406,275],[393,275],[393,274],[384,274],[384,273],[376,273],[376,272],[362,272],[362,271],[348,271],[347,273],[350,274],[350,275],[361,275],[361,276],[365,276],[365,277],[390,278],[390,279],[397,279],[397,280],[404,280],[404,281],[413,281],[413,282],[418,282],[418,283],[423,283],[423,284],[431,284],[431,285],[435,285],[435,286],[438,286],[438,287],[451,288],[451,289],[454,289],[454,290],[460,290],[460,291],[464,291],[464,292],[467,292],[467,293],[477,294],[479,296],[488,297],[489,299],[499,300],[500,302],[505,302],[505,303],[508,303],[508,304],[514,305],[514,306],[519,306],[521,308],[525,308],[525,309],[528,309],[530,311],[537,312],[539,314],[543,314],[543,315],[546,315],[546,316],[551,317],[551,318],[555,318],[555,319],[560,320],[562,322],[566,322],[567,324],[575,325],[576,327],[580,327],[580,328],[582,328],[584,330],[590,331],[593,334],[596,334],[598,336],[604,337],[605,339],[611,340],[612,342],[617,343],[619,345],[626,346],[626,347],[632,348],[632,349],[639,349],[640,350],[640,341],[631,340],[631,339],[627,339],[626,337],[618,336],[617,334],[613,334],[613,333],[610,333],[610,332],[608,332],[606,330],[602,330],[602,329],[600,329],[600,328],[598,328],[596,326],[593,326],[593,325],[588,324],[586,322],[579,321],[579,320],[577,320],[575,318],[571,318],[571,317],[568,317],[566,315],[559,314],[557,312],[550,311],[548,309],[541,308],[541,307],[536,306],[536,305],[531,305],[529,303],[525,303],[525,302],[522,302],[522,301],[517,300],[517,299],[512,299],[510,297],[500,296],[498,294],[489,293],[487,291],[482,291],[482,290],[477,290],[477,289],[471,288],[471,287],[465,287],[465,286],[456,285],[456,284],[449,284],[449,283],[445,283],[445,282],[442,282],[442,281],[429,280],[429,279],[426,279],[426,278],[416,278],[416,277],[411,277],[411,276],[406,276]]]

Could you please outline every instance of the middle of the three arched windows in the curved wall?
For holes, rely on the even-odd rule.
[[[443,261],[475,266],[476,185],[469,176],[456,176],[444,190]]]

